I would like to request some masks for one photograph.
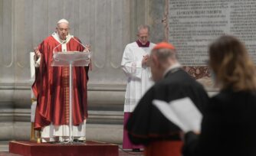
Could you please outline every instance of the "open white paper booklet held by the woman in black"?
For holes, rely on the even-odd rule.
[[[189,97],[165,102],[154,99],[153,105],[162,112],[162,115],[179,126],[183,132],[200,132],[202,113],[196,108]]]

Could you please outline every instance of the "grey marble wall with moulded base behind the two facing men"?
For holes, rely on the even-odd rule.
[[[167,4],[168,0],[0,0],[0,140],[29,138],[29,52],[66,18],[71,34],[91,44],[93,51],[87,139],[121,143],[123,48],[136,40],[136,28],[143,23],[152,28],[151,41],[168,41]]]

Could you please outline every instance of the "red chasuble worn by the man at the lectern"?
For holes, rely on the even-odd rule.
[[[79,39],[76,38],[77,41]],[[67,42],[67,51],[83,51],[74,38]],[[58,46],[59,45],[59,46]],[[58,47],[57,47],[58,46]],[[54,50],[54,47],[57,47]],[[37,97],[34,129],[41,130],[46,125],[68,125],[69,116],[69,70],[68,67],[51,67],[53,50],[62,51],[54,37],[47,37],[38,47],[41,52],[40,67],[36,68],[32,85]],[[73,67],[73,125],[87,119],[87,67]]]

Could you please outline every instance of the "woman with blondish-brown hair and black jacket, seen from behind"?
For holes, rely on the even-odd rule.
[[[185,134],[183,155],[256,155],[256,76],[245,45],[218,38],[209,47],[209,67],[220,93],[210,99],[201,134]]]

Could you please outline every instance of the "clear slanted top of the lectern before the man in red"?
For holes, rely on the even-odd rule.
[[[90,52],[80,51],[67,51],[67,52],[54,52],[51,66],[69,66],[70,64],[75,67],[88,66],[90,63]]]

